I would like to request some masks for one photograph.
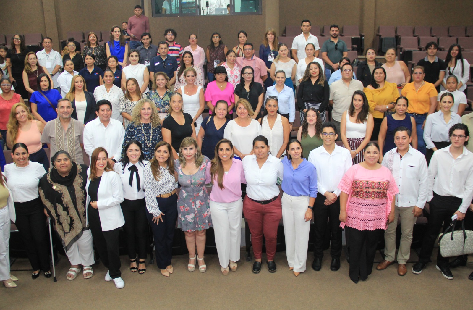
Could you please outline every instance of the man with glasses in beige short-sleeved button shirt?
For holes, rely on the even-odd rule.
[[[363,91],[363,83],[353,79],[353,67],[350,63],[342,66],[342,79],[330,85],[329,104],[332,106],[332,121],[337,126],[337,140],[340,140],[340,122],[342,114],[350,107],[355,90]]]

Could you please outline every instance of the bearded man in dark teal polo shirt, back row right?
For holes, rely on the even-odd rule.
[[[330,26],[330,39],[322,45],[322,59],[325,62],[325,80],[330,79],[333,71],[339,68],[339,62],[342,57],[348,56],[347,44],[339,40],[340,30],[338,25]]]

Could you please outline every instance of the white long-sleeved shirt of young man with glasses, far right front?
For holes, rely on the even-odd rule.
[[[427,201],[432,199],[432,192],[462,198],[458,211],[466,213],[473,196],[473,153],[464,147],[463,153],[454,159],[451,147],[435,151],[430,159]]]

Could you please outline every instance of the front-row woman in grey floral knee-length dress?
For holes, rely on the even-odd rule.
[[[212,227],[209,194],[205,187],[209,162],[210,159],[202,156],[194,137],[184,138],[179,148],[179,158],[174,163],[177,181],[181,185],[177,198],[177,227],[185,234],[189,251],[187,269],[191,272],[195,270],[196,258],[199,271],[207,270],[204,262],[205,232]]]

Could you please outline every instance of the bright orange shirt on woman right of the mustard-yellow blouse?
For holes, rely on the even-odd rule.
[[[430,98],[435,97],[437,101],[437,89],[434,84],[424,81],[418,91],[415,91],[414,82],[407,83],[401,91],[401,95],[409,99],[408,113],[425,114],[430,109]]]

